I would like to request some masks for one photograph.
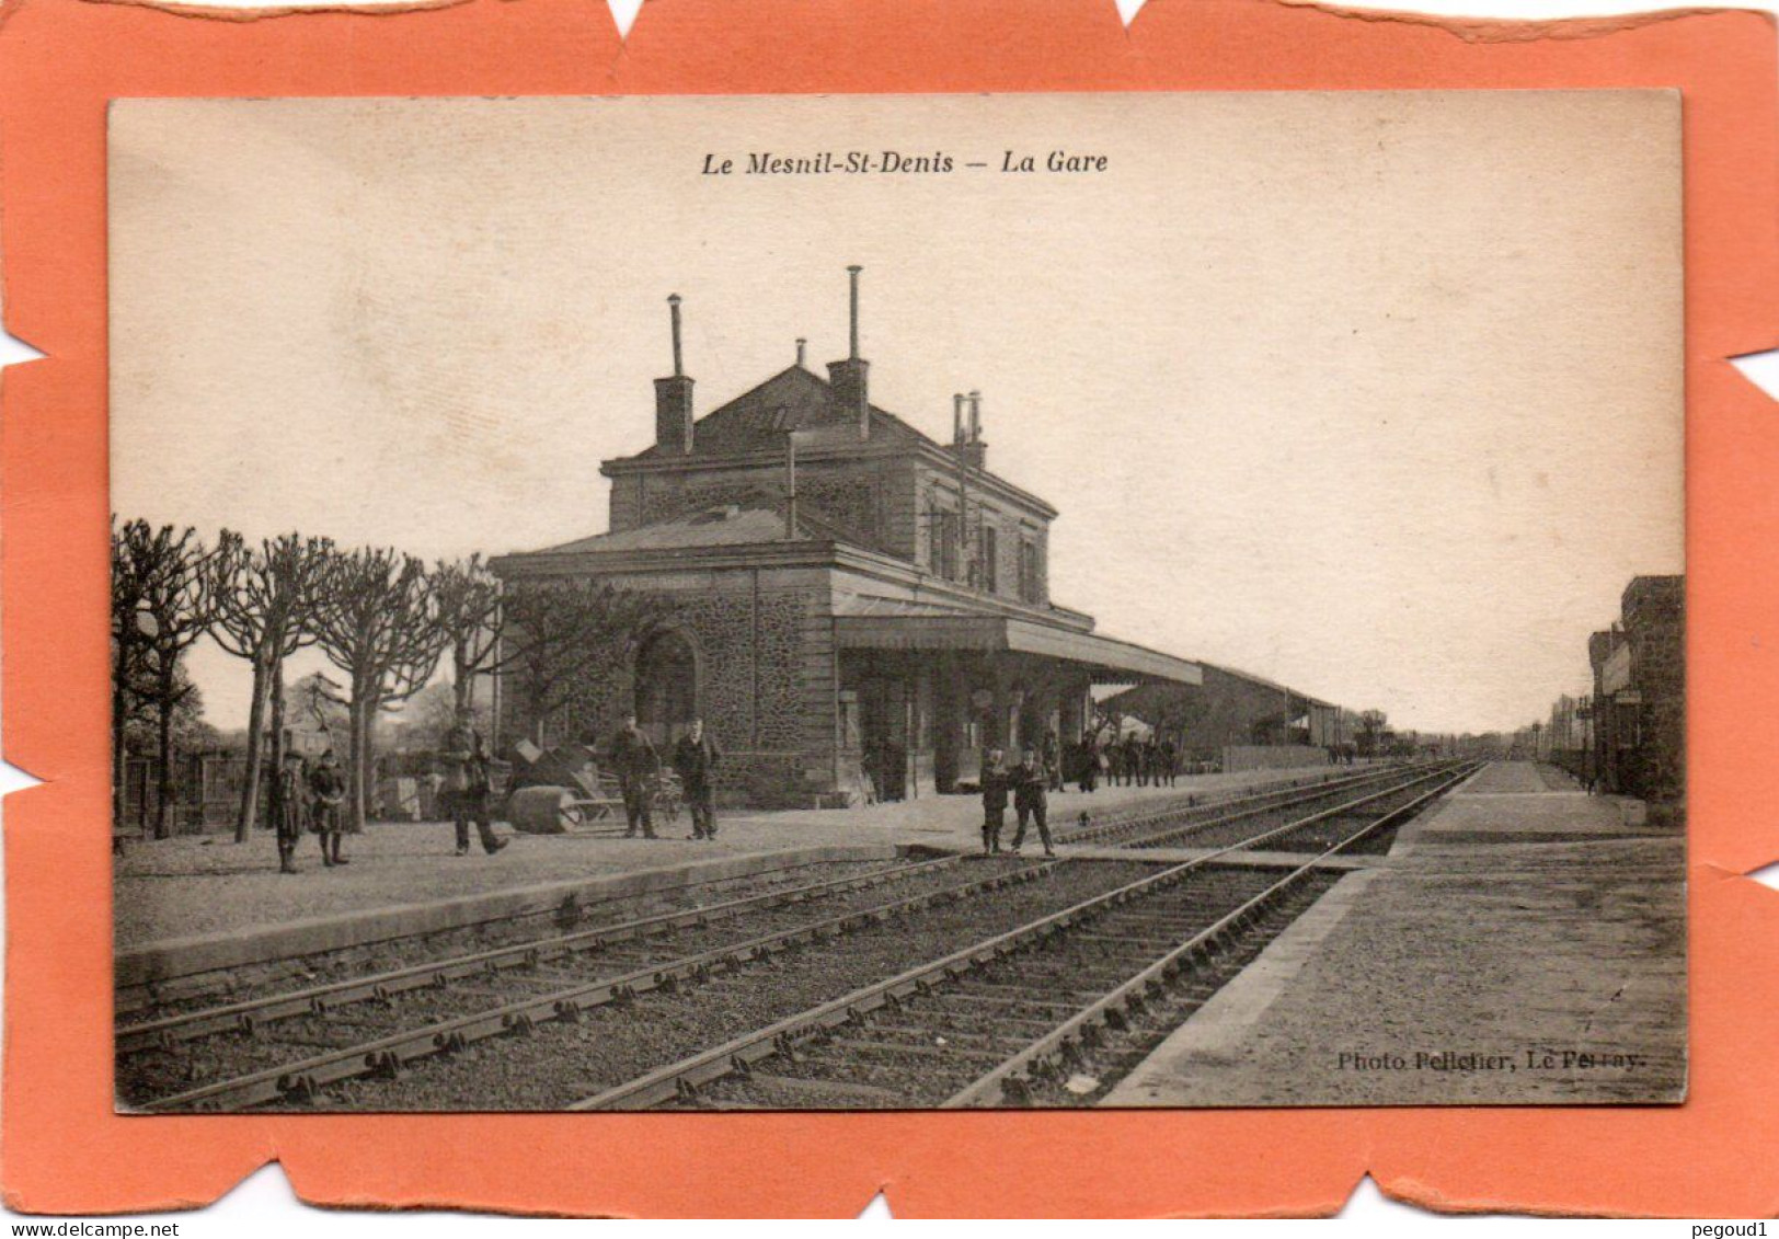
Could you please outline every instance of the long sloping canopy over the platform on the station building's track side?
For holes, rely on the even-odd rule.
[[[834,634],[841,650],[916,650],[968,653],[1030,653],[1060,659],[1119,682],[1167,680],[1203,684],[1197,662],[1114,641],[1092,632],[1012,616],[970,614],[863,614],[836,616]]]

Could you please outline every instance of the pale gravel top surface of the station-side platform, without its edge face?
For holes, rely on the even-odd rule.
[[[1051,819],[1073,822],[1083,810],[1107,814],[1185,794],[1222,794],[1265,787],[1315,771],[1242,771],[1197,774],[1174,787],[1101,787],[1051,798]],[[267,831],[247,844],[229,835],[132,842],[114,862],[114,924],[119,947],[165,938],[249,931],[304,917],[365,911],[575,878],[630,872],[712,856],[738,856],[824,844],[930,844],[973,849],[980,844],[980,806],[971,796],[843,810],[781,814],[733,812],[719,821],[715,842],[687,840],[685,819],[660,840],[630,840],[608,830],[575,835],[511,835],[496,856],[454,856],[450,822],[379,822],[345,840],[352,860],[324,869],[313,840],[297,856],[301,874],[278,872]]]

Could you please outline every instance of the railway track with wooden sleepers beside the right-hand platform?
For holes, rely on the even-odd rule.
[[[1372,798],[1368,821],[1283,876],[1172,865],[569,1109],[1091,1102],[1108,1088],[1099,1063],[1140,1057],[1320,897],[1334,879],[1322,862],[1471,769],[1416,776],[1407,799]]]

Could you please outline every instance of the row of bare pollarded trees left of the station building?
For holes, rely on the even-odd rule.
[[[370,810],[375,723],[423,689],[450,657],[454,705],[468,710],[475,680],[509,673],[532,719],[559,709],[582,676],[626,666],[626,653],[667,620],[669,603],[608,584],[539,582],[505,589],[480,555],[431,568],[395,548],[342,548],[281,534],[249,543],[224,529],[206,545],[194,529],[112,522],[112,758],[126,725],[157,723],[155,837],[171,833],[174,730],[196,694],[185,655],[203,637],[253,669],[247,753],[235,838],[260,814],[265,769],[283,758],[285,660],[318,648],[345,678],[343,762],[349,830]],[[322,710],[308,703],[327,726]],[[267,749],[270,737],[270,749]],[[123,814],[121,781],[117,805]]]

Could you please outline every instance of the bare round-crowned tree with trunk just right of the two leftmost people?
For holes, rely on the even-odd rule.
[[[333,554],[322,571],[315,639],[347,673],[347,830],[370,817],[377,710],[425,687],[445,650],[423,563],[393,548]]]

